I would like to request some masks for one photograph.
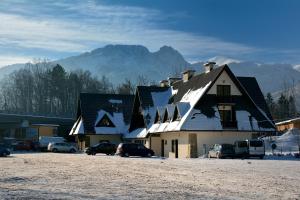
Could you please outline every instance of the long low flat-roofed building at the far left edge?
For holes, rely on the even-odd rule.
[[[40,136],[66,136],[73,123],[71,118],[0,113],[0,140],[38,141]]]

